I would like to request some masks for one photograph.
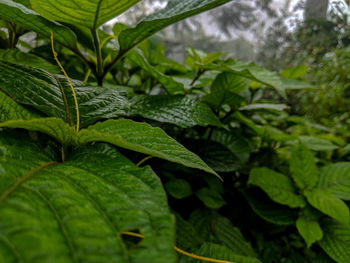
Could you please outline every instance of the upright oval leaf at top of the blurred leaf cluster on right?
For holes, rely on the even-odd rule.
[[[300,189],[312,189],[318,183],[318,170],[315,158],[304,145],[294,147],[290,159],[290,172]]]

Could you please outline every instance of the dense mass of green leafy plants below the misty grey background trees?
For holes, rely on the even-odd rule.
[[[0,262],[350,262],[349,50],[183,65],[152,35],[228,0],[100,29],[137,2],[0,0]]]

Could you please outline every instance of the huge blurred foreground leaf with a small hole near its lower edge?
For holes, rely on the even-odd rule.
[[[137,168],[104,144],[82,147],[64,163],[4,133],[0,149],[4,263],[39,257],[41,262],[176,261],[173,219],[149,167]],[[128,250],[121,233],[130,230],[145,238]]]

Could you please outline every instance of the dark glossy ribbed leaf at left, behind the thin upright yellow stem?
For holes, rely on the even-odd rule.
[[[86,87],[72,80],[80,109],[82,127],[99,119],[126,115],[129,102],[118,91]],[[0,92],[18,103],[30,105],[47,116],[59,117],[76,123],[72,90],[62,75],[53,75],[42,69],[16,65],[0,60]]]

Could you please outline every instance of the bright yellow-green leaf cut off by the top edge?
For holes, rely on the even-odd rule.
[[[32,7],[43,17],[72,25],[96,29],[120,15],[140,0],[31,0]]]

